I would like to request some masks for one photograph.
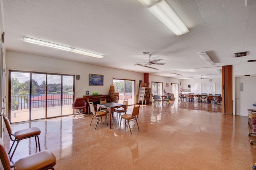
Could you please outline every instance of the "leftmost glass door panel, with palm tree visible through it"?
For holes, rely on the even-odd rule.
[[[10,122],[30,120],[30,73],[10,72]]]

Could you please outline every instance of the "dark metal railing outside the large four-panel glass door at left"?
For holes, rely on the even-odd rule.
[[[11,109],[22,110],[29,109],[29,96],[28,95],[17,95],[11,96]],[[72,105],[73,94],[62,94],[62,105]],[[47,106],[60,106],[61,95],[50,94],[47,95]],[[31,96],[31,108],[46,107],[46,95],[32,95]]]

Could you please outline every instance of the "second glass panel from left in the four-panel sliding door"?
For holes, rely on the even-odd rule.
[[[44,119],[46,112],[46,74],[32,73],[31,120]]]

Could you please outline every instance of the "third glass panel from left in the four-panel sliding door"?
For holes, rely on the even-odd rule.
[[[47,118],[61,116],[61,78],[47,74]]]

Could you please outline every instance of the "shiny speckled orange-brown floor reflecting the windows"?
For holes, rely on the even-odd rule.
[[[129,107],[128,113],[131,113]],[[201,110],[202,109],[202,110]],[[173,169],[249,170],[256,162],[256,143],[250,145],[247,117],[223,115],[221,106],[171,101],[170,105],[140,107],[137,128],[132,134],[103,123],[94,126],[92,116],[72,116],[12,124],[13,131],[28,127],[41,129],[41,150],[57,158],[55,170],[82,169]],[[10,147],[6,132],[4,142]],[[12,158],[38,152],[34,138],[22,140]]]

